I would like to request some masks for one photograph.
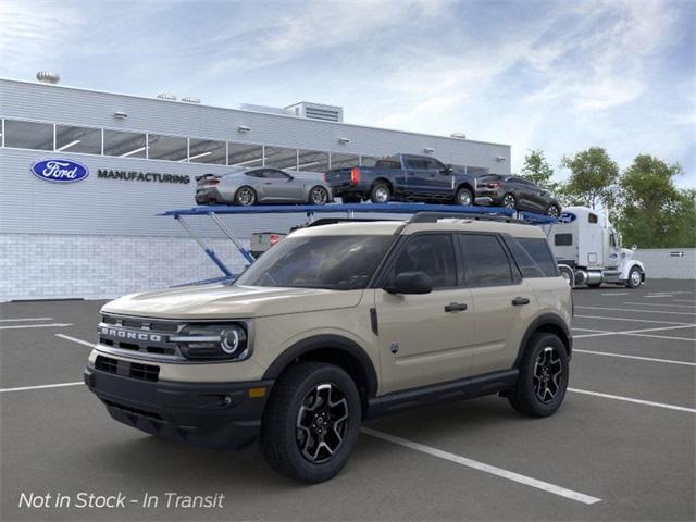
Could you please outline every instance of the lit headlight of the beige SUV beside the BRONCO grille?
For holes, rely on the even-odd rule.
[[[251,353],[248,323],[187,324],[170,340],[192,360],[243,360]]]

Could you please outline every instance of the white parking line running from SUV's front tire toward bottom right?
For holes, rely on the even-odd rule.
[[[372,437],[376,437],[382,440],[397,444],[399,446],[403,446],[406,448],[413,449],[415,451],[421,451],[432,457],[437,457],[439,459],[448,460],[450,462],[455,462],[456,464],[465,465],[467,468],[472,468],[474,470],[483,471],[492,475],[500,476],[502,478],[508,478],[509,481],[513,481],[519,484],[524,484],[525,486],[535,487],[537,489],[542,489],[544,492],[551,493],[554,495],[566,497],[571,500],[575,500],[576,502],[589,505],[589,504],[597,504],[601,501],[601,499],[597,497],[592,497],[589,495],[574,492],[572,489],[567,489],[564,487],[557,486],[555,484],[549,484],[548,482],[538,481],[536,478],[521,475],[512,471],[504,470],[501,468],[496,468],[495,465],[485,464],[476,460],[468,459],[467,457],[461,457],[459,455],[450,453],[448,451],[443,451],[440,449],[436,449],[431,446],[425,446],[424,444],[414,443],[412,440],[408,440],[401,437],[396,437],[387,433],[377,432],[369,427],[363,427],[361,431],[362,433],[370,435]]]

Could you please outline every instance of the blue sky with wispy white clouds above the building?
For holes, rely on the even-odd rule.
[[[679,162],[696,187],[696,1],[0,0],[0,77]]]

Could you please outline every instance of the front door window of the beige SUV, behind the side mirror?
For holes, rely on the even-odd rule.
[[[399,251],[393,276],[401,272],[425,272],[433,288],[457,286],[457,261],[450,234],[424,234],[410,238]]]

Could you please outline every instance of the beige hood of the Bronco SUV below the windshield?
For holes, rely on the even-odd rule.
[[[363,290],[275,288],[223,284],[130,294],[102,308],[107,313],[159,319],[244,319],[355,307]]]

